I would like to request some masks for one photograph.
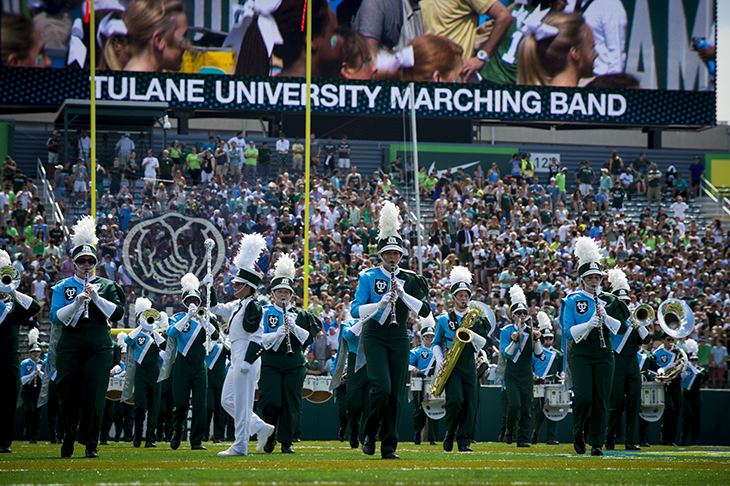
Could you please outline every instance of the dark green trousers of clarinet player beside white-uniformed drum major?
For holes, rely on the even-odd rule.
[[[266,356],[259,379],[259,406],[264,422],[276,427],[276,438],[291,445],[302,414],[303,362],[283,355]],[[287,365],[286,363],[290,363]]]

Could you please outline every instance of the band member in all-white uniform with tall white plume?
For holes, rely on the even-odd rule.
[[[256,381],[261,372],[259,356],[263,336],[263,312],[256,300],[256,290],[264,276],[256,268],[256,262],[265,248],[266,240],[260,234],[243,236],[233,259],[237,269],[231,280],[235,299],[213,306],[213,312],[228,322],[231,363],[223,383],[221,403],[233,417],[235,427],[233,444],[219,452],[219,456],[248,455],[248,439],[253,434],[258,436],[256,450],[260,452],[274,432],[274,426],[265,423],[253,411]]]

